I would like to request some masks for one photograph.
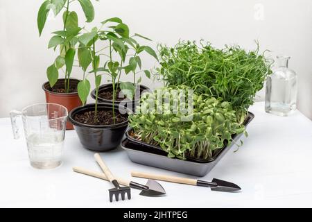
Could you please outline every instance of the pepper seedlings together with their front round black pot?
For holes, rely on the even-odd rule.
[[[116,26],[106,27],[108,22]],[[94,76],[96,102],[71,110],[69,120],[73,123],[83,146],[93,151],[108,151],[119,146],[128,127],[130,110],[121,109],[115,103],[117,84],[120,84],[121,71],[125,69],[123,63],[128,51],[124,42],[128,41],[128,38],[128,26],[116,17],[106,19],[100,28],[93,28],[91,32],[80,37],[80,54],[91,55],[89,60],[85,60],[86,56],[83,56],[80,63],[85,63],[85,68],[92,63],[92,70],[84,75],[79,83],[78,94],[85,101],[90,89],[88,77]],[[105,49],[108,53],[105,53]],[[112,103],[98,103],[99,87],[104,75],[112,81]]]

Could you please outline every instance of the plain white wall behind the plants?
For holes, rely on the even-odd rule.
[[[55,58],[47,49],[52,31],[62,28],[60,17],[49,16],[42,37],[37,31],[40,0],[0,0],[0,117],[12,109],[44,101],[42,83],[46,67]],[[270,56],[286,54],[299,76],[298,105],[312,119],[312,1],[311,0],[114,0],[94,1],[99,24],[109,17],[121,17],[132,33],[155,42],[175,44],[177,40],[209,40],[214,46],[240,44]],[[78,3],[80,26],[84,21]],[[145,67],[155,62],[146,56]],[[76,69],[73,76],[80,78]],[[128,79],[128,78],[125,78]],[[160,85],[144,79],[144,84]],[[89,99],[92,101],[92,99]]]

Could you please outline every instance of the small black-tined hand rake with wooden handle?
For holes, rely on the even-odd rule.
[[[106,164],[102,160],[101,156],[98,153],[96,153],[96,154],[94,154],[94,157],[95,157],[96,162],[98,163],[98,165],[100,165],[101,169],[105,173],[107,179],[110,180],[110,182],[112,182],[112,184],[115,187],[115,188],[112,188],[112,189],[108,190],[108,191],[110,191],[110,202],[112,202],[113,196],[115,196],[116,201],[118,201],[119,200],[119,194],[121,194],[121,199],[122,200],[125,200],[125,194],[127,194],[128,199],[130,200],[131,199],[130,187],[121,187],[121,186],[119,186],[118,181],[114,178],[114,176],[110,172],[110,169],[108,169],[108,167],[106,166]]]

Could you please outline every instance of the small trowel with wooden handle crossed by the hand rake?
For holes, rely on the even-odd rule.
[[[73,171],[77,173],[83,173],[88,176],[93,176],[95,178],[100,178],[102,180],[108,180],[104,173],[99,173],[96,171],[89,171],[88,169],[84,169],[82,167],[73,167]],[[159,182],[155,180],[149,179],[146,185],[141,185],[133,181],[122,180],[120,178],[117,178],[117,181],[121,185],[128,186],[134,189],[140,189],[141,190],[140,195],[142,196],[161,196],[161,195],[166,194],[166,191],[164,190],[162,185],[160,185]]]

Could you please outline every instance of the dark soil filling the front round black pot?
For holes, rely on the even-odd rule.
[[[87,111],[82,114],[76,114],[73,119],[80,123],[96,126],[113,125],[116,123],[122,123],[128,119],[126,115],[120,114],[117,110],[115,110],[115,122],[113,120],[112,110],[98,110],[98,117],[96,120],[94,119],[94,114],[94,110]]]

